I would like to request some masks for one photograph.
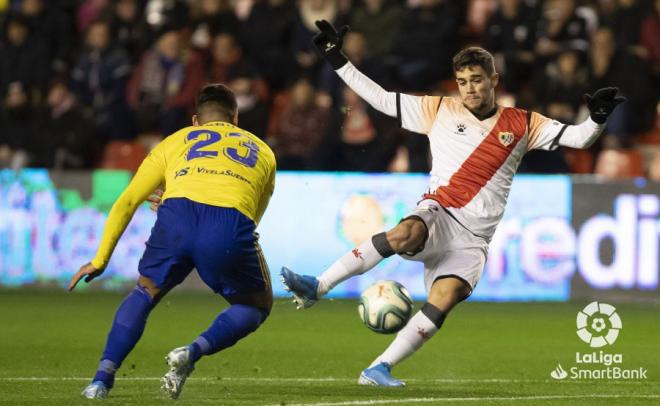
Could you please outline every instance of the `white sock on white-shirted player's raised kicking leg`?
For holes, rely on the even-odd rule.
[[[383,257],[374,247],[371,238],[368,238],[365,242],[335,261],[330,268],[326,269],[317,278],[319,280],[318,296],[325,295],[332,288],[351,276],[367,272],[382,260]]]

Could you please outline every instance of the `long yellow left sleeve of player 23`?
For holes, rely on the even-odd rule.
[[[103,237],[92,265],[96,269],[103,269],[108,265],[112,251],[114,251],[119,237],[131,221],[135,210],[145,201],[158,185],[163,183],[165,174],[165,161],[162,154],[154,149],[138,168],[135,176],[112,205],[108,220],[105,222]]]

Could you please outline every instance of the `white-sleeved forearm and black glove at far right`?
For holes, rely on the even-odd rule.
[[[561,134],[559,145],[571,148],[589,148],[605,128],[607,118],[612,114],[616,106],[626,101],[625,97],[617,96],[619,89],[606,87],[598,89],[593,95],[585,94],[589,108],[589,118],[578,125],[567,126]]]

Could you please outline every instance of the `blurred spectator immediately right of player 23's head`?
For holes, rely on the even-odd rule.
[[[227,85],[236,95],[238,125],[259,138],[267,137],[268,105],[261,100],[259,79],[250,71],[234,71]]]

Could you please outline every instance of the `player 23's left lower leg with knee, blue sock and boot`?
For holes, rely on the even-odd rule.
[[[142,337],[149,313],[166,291],[140,276],[135,289],[119,305],[92,383],[82,392],[88,399],[106,398],[114,386],[115,373]]]

